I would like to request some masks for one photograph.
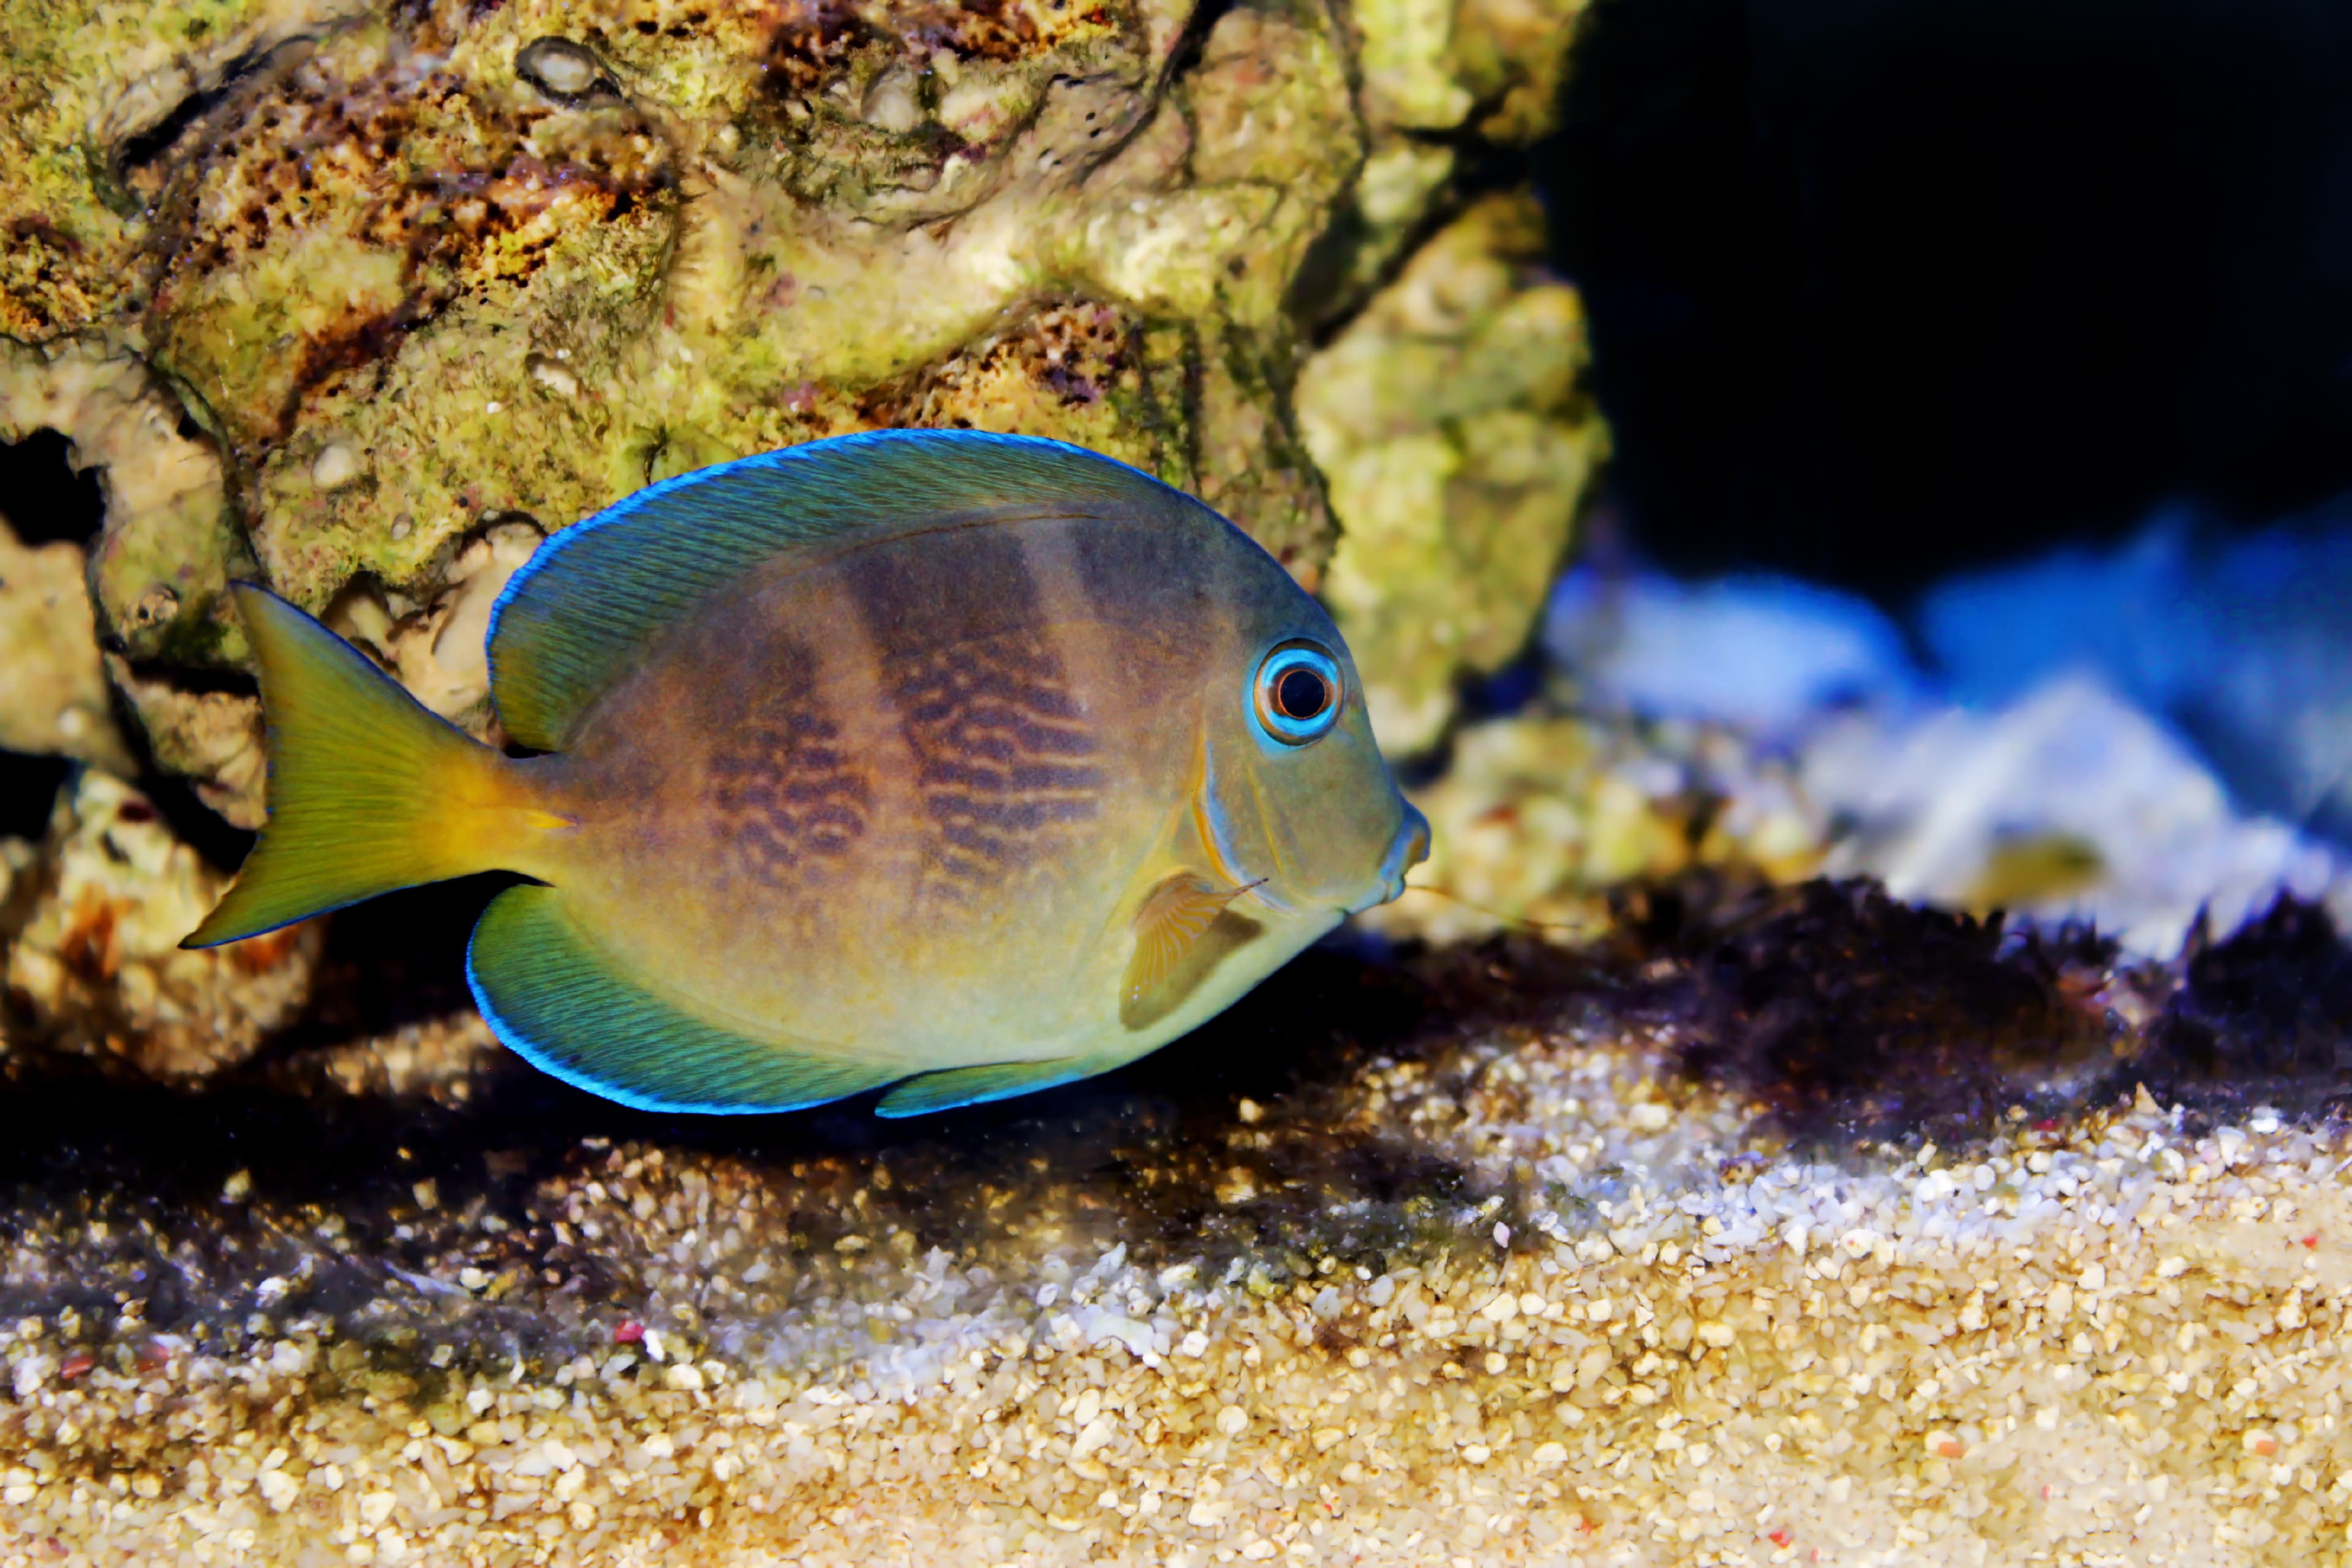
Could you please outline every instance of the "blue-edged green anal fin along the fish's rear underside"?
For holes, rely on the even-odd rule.
[[[550,886],[513,886],[489,900],[466,945],[466,983],[489,1027],[527,1063],[637,1110],[802,1110],[908,1072],[906,1063],[755,1039],[696,1018],[623,973]]]

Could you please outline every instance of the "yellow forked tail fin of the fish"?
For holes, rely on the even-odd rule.
[[[183,947],[212,947],[376,893],[508,865],[529,809],[515,764],[419,708],[348,642],[238,583],[261,661],[270,820]]]

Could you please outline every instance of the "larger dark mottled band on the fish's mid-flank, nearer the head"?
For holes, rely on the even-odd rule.
[[[1098,816],[1096,738],[1011,529],[870,550],[849,581],[931,818],[929,893],[985,893]]]

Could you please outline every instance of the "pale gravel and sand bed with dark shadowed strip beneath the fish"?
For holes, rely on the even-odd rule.
[[[915,1128],[463,1020],[113,1133],[19,1088],[0,1561],[2352,1561],[2340,1126],[1792,1152],[1590,980],[1305,971]]]

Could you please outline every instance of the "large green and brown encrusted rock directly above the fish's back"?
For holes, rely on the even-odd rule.
[[[1232,12],[1162,94],[1181,12],[637,9],[327,28],[158,158],[155,357],[278,588],[428,602],[489,517],[894,423],[1084,440],[1319,562],[1279,303],[1359,155],[1329,21]]]

